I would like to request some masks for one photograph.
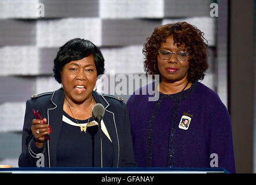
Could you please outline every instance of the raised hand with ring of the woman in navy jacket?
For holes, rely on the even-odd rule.
[[[35,138],[35,144],[37,147],[43,147],[43,142],[45,142],[45,135],[48,135],[52,132],[50,125],[47,125],[47,120],[32,120],[31,131]]]

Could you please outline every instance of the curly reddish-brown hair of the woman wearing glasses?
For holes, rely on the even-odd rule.
[[[204,72],[209,66],[207,62],[208,42],[203,37],[202,31],[186,22],[156,27],[151,37],[147,38],[142,50],[145,56],[144,70],[147,75],[160,75],[157,68],[158,50],[160,44],[166,42],[170,35],[173,35],[174,43],[177,43],[178,47],[185,43],[186,50],[189,52],[188,80],[191,82],[203,80]]]

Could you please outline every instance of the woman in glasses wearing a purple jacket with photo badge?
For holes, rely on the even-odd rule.
[[[141,167],[222,167],[235,173],[231,120],[218,95],[198,80],[208,68],[203,32],[188,23],[155,28],[144,45],[147,74],[159,75],[127,102]],[[157,101],[149,93],[159,92]],[[139,94],[139,95],[136,95]]]

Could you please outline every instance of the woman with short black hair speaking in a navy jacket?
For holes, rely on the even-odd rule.
[[[136,166],[125,103],[93,91],[104,73],[101,51],[89,40],[72,39],[60,47],[53,71],[62,87],[27,101],[19,166]],[[92,117],[96,103],[105,109],[102,159],[99,127]],[[34,119],[32,109],[43,119]]]

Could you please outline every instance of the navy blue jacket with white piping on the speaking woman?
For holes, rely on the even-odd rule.
[[[42,166],[56,166],[56,149],[61,129],[64,98],[64,91],[60,88],[53,92],[34,95],[27,101],[22,134],[22,151],[19,157],[20,167],[37,166],[36,162],[39,160],[39,156],[36,154],[41,153],[43,154],[43,161],[41,160],[41,162],[44,162]],[[114,148],[112,166],[136,167],[126,104],[120,98],[102,95],[96,91],[93,91],[93,98],[96,103],[101,103],[105,108],[103,120]],[[36,147],[31,131],[32,119],[34,119],[33,108],[39,110],[42,116],[46,117],[47,124],[53,130],[50,134],[50,141],[46,140],[42,149]]]

